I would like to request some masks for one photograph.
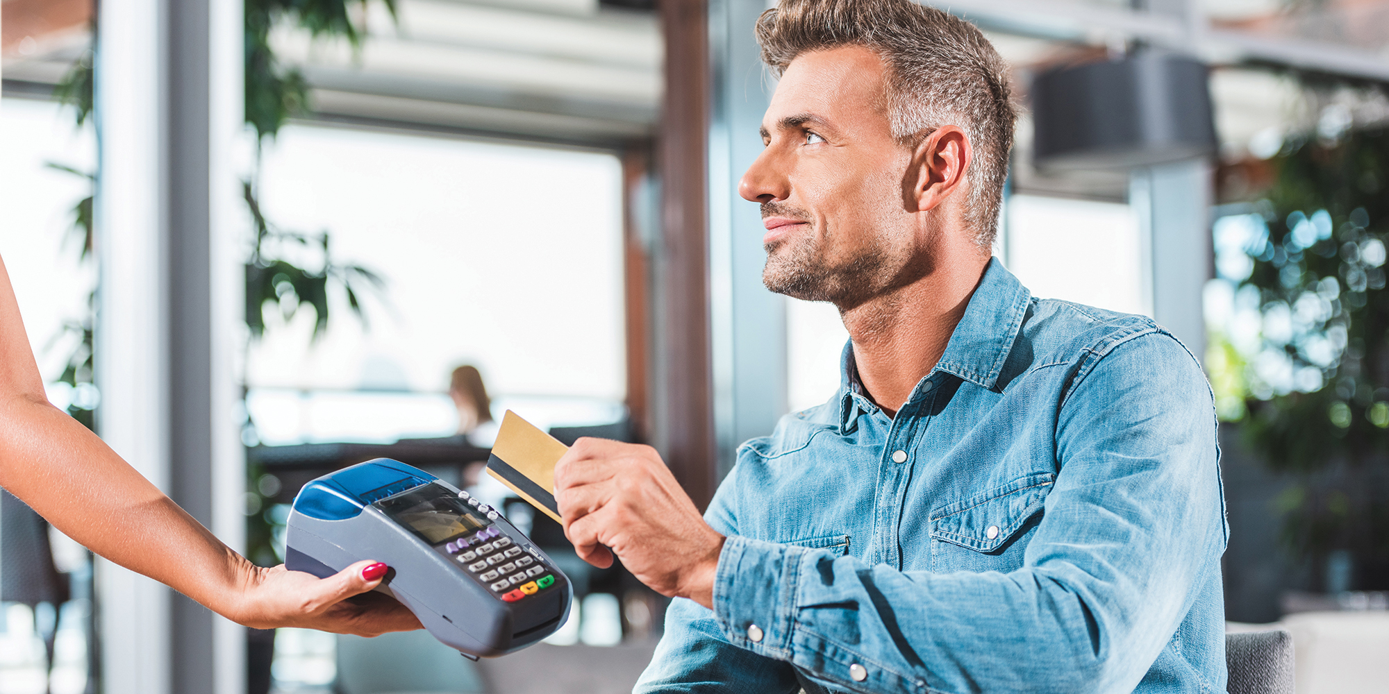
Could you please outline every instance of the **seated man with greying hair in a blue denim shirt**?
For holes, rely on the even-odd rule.
[[[783,0],[757,36],[764,280],[851,341],[703,518],[650,448],[560,461],[579,555],[678,597],[636,690],[1224,691],[1210,389],[1150,319],[990,260],[997,53],[910,0]]]

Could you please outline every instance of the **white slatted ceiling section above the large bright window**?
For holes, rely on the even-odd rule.
[[[656,125],[661,36],[650,12],[589,0],[399,0],[361,49],[282,28],[325,115],[542,136],[622,140]]]

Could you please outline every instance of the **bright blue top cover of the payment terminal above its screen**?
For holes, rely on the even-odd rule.
[[[346,520],[361,514],[367,504],[436,479],[419,468],[376,458],[304,484],[294,497],[294,511],[319,520]]]

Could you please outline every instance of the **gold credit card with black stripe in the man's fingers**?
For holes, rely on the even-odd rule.
[[[560,505],[554,502],[554,464],[568,450],[568,446],[507,409],[488,458],[488,475],[563,523]]]

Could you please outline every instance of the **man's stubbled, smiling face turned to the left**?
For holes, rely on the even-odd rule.
[[[763,118],[767,149],[739,186],[763,205],[767,289],[847,310],[929,272],[885,78],[858,46],[801,54],[782,75]]]

